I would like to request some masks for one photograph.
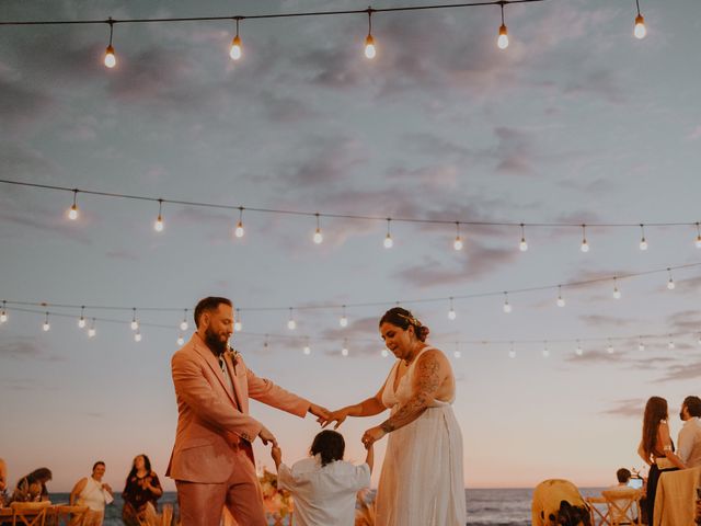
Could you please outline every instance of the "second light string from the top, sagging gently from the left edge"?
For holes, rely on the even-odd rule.
[[[418,224],[418,225],[450,225],[455,226],[456,224],[472,226],[472,227],[514,227],[519,229],[521,233],[521,244],[526,240],[525,228],[573,228],[579,229],[585,235],[583,242],[586,241],[586,228],[636,228],[641,227],[687,227],[693,228],[697,231],[697,237],[694,238],[694,242],[697,247],[701,248],[701,228],[699,227],[700,221],[663,221],[663,222],[611,222],[611,221],[602,221],[602,222],[589,222],[589,224],[578,224],[578,222],[520,222],[520,221],[470,221],[464,219],[426,219],[426,218],[417,218],[417,217],[382,217],[382,216],[370,216],[363,214],[338,214],[338,213],[320,213],[320,211],[307,211],[307,210],[294,210],[294,209],[283,209],[283,208],[271,208],[271,207],[252,207],[252,206],[241,206],[241,205],[222,205],[217,203],[207,203],[207,202],[197,202],[197,201],[185,201],[185,199],[174,199],[174,198],[164,198],[164,197],[151,197],[146,195],[136,195],[136,194],[123,194],[116,192],[103,192],[103,191],[94,191],[94,190],[82,190],[82,188],[70,188],[68,186],[58,186],[51,184],[39,184],[39,183],[28,183],[25,181],[14,181],[0,179],[0,183],[2,184],[11,184],[15,186],[28,187],[28,188],[43,188],[43,190],[54,190],[59,192],[69,192],[73,194],[73,202],[77,194],[80,192],[85,195],[95,195],[101,197],[108,197],[115,199],[126,199],[126,201],[145,201],[150,203],[157,203],[159,205],[159,215],[160,209],[163,204],[173,204],[181,206],[192,206],[192,207],[200,207],[200,208],[217,208],[223,210],[238,210],[239,211],[239,220],[242,220],[243,210],[246,211],[255,211],[260,214],[274,214],[274,215],[287,215],[287,216],[302,216],[302,217],[311,217],[315,219],[320,218],[331,218],[331,219],[349,219],[349,220],[365,220],[365,221],[383,221],[387,222],[405,222],[405,224]],[[72,207],[71,207],[72,209]],[[319,226],[318,226],[319,228]]]

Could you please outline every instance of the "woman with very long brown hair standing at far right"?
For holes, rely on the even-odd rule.
[[[667,400],[660,397],[651,397],[645,404],[643,436],[637,447],[637,454],[650,466],[645,507],[651,522],[655,516],[655,494],[657,493],[659,474],[664,471],[674,471],[686,467],[675,454],[667,418]]]

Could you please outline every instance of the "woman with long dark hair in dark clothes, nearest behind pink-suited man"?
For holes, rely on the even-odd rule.
[[[137,455],[131,462],[131,471],[122,492],[124,507],[122,521],[126,526],[141,526],[153,521],[158,512],[158,500],[163,494],[158,474],[151,470],[151,461],[146,455]]]

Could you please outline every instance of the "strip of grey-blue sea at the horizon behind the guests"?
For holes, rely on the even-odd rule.
[[[598,495],[604,488],[581,488],[585,496]],[[530,501],[532,489],[484,489],[466,490],[468,503],[468,525],[470,526],[530,526]],[[51,493],[54,503],[67,503],[68,493]],[[173,504],[176,494],[165,492],[159,504]],[[105,526],[122,526],[122,498],[115,494],[115,501],[107,506]],[[273,523],[269,523],[271,526]],[[287,526],[287,522],[284,523]]]

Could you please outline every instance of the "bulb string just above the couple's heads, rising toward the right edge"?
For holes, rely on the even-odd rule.
[[[450,302],[456,300],[467,300],[467,299],[478,299],[478,298],[489,298],[489,297],[503,297],[505,298],[505,305],[508,304],[509,296],[517,294],[528,294],[543,290],[558,290],[559,296],[561,297],[562,290],[564,288],[579,288],[588,285],[595,285],[599,283],[612,283],[613,289],[618,290],[618,284],[623,279],[631,279],[641,276],[648,276],[653,274],[665,273],[671,278],[671,271],[683,271],[690,268],[699,268],[701,267],[701,263],[688,263],[685,265],[677,266],[665,266],[663,268],[655,268],[651,271],[628,273],[628,274],[616,274],[613,276],[601,276],[595,277],[591,279],[583,279],[576,282],[565,282],[553,285],[539,285],[533,287],[522,287],[522,288],[514,288],[510,290],[492,290],[485,293],[472,293],[464,295],[452,295],[446,297],[433,297],[433,298],[414,298],[414,299],[404,299],[404,300],[395,300],[395,301],[365,301],[365,302],[355,302],[355,304],[331,304],[323,302],[317,305],[298,305],[294,307],[277,307],[277,306],[268,306],[268,307],[237,307],[237,313],[240,312],[264,312],[264,311],[286,311],[289,312],[289,319],[294,320],[294,311],[311,311],[311,310],[342,310],[344,316],[347,308],[363,308],[363,307],[386,307],[388,305],[417,305],[417,304],[435,304],[435,302]],[[668,287],[667,282],[667,287]],[[137,310],[140,312],[150,311],[150,312],[182,312],[184,310],[183,307],[120,307],[120,306],[108,306],[108,305],[88,305],[88,304],[54,304],[54,302],[36,302],[36,301],[26,301],[26,300],[2,300],[3,309],[8,309],[10,306],[20,306],[20,307],[50,307],[54,309],[72,309],[72,310],[112,310],[112,311],[122,311],[122,312],[131,312],[133,313],[133,322],[137,320]],[[11,310],[16,310],[12,308]],[[510,311],[510,305],[509,305]],[[74,315],[73,315],[74,316]]]

